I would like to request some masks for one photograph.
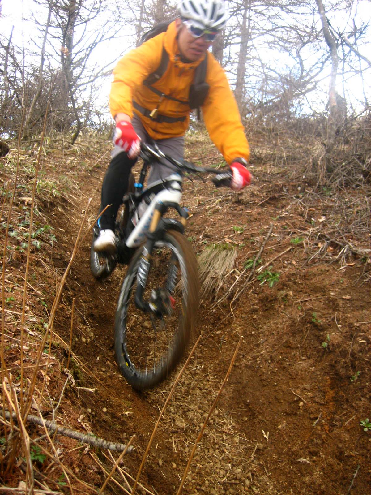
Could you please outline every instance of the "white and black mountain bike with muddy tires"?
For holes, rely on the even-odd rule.
[[[214,184],[229,185],[230,172],[197,167],[165,155],[156,145],[141,143],[139,182],[131,175],[115,226],[114,255],[97,253],[93,243],[94,277],[107,276],[117,263],[129,264],[115,317],[114,348],[121,374],[137,390],[164,380],[182,358],[198,309],[197,261],[184,236],[188,210],[180,205],[183,176],[212,173]],[[151,163],[172,163],[179,173],[143,183]],[[155,165],[154,165],[155,166]],[[169,216],[169,210],[178,214]]]

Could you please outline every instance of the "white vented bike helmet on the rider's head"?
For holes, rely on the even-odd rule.
[[[223,29],[229,19],[224,0],[180,0],[178,10],[183,19],[190,19],[200,29]]]

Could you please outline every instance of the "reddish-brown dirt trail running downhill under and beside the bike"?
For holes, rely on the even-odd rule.
[[[192,153],[194,159],[199,157],[196,146]],[[50,222],[63,234],[57,236],[58,255],[52,260],[57,270],[68,261],[88,198],[93,198],[91,219],[97,210],[104,169],[104,160],[92,171],[82,169],[81,197],[62,208],[57,201],[50,206]],[[184,493],[370,492],[371,432],[360,427],[361,419],[371,417],[370,284],[355,285],[365,264],[355,257],[341,267],[335,260],[340,250],[336,246],[329,253],[332,264],[320,257],[308,263],[318,244],[295,244],[292,239],[305,238],[310,219],[317,222],[324,207],[313,201],[308,216],[308,205],[302,206],[295,196],[296,185],[284,173],[278,177],[270,172],[256,167],[254,185],[239,194],[214,191],[210,182],[185,182],[185,204],[193,213],[187,235],[196,252],[223,241],[237,249],[237,257],[221,291],[215,298],[203,298],[198,324],[202,339],[141,476],[153,493],[178,490],[240,335],[244,339],[230,380],[197,447]],[[271,278],[277,274],[277,283],[269,287],[269,274],[265,283],[253,278],[233,302],[231,314],[232,297],[243,287],[249,268],[241,273],[271,224],[261,263],[279,255],[267,266]],[[175,375],[143,394],[133,392],[119,375],[112,337],[125,267],[118,267],[107,281],[96,282],[90,274],[89,249],[90,238],[68,277],[56,332],[68,340],[70,307],[76,298],[73,352],[86,371],[76,367],[75,379],[95,393],[69,398],[81,405],[80,421],[89,423],[95,434],[114,442],[136,435],[136,448],[124,462],[135,477]],[[235,290],[215,305],[234,282]],[[358,372],[358,379],[351,381]],[[81,473],[88,470],[83,457],[80,452],[76,458]]]

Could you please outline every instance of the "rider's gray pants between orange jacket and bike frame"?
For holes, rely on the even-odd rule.
[[[139,138],[144,141],[144,143],[148,143],[151,138],[146,133],[143,124],[141,123],[140,118],[137,114],[134,114],[132,119],[132,124],[135,132],[138,134]],[[172,158],[176,160],[182,161],[184,157],[184,136],[176,137],[176,138],[168,138],[168,139],[159,139],[155,140],[158,148],[165,154],[170,155]],[[150,144],[150,143],[148,143]],[[114,158],[116,155],[122,152],[122,148],[119,146],[115,146],[112,150],[111,156]],[[152,184],[153,182],[158,181],[159,179],[164,179],[168,175],[171,175],[174,172],[179,171],[172,165],[170,162],[167,162],[168,166],[163,165],[162,163],[153,163],[149,172],[149,176],[147,179],[147,184]]]

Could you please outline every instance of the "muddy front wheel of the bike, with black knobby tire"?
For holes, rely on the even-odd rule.
[[[154,387],[179,363],[198,309],[196,257],[185,237],[175,231],[156,242],[150,258],[143,299],[152,309],[136,306],[143,249],[139,247],[129,265],[115,320],[117,363],[137,390]]]

